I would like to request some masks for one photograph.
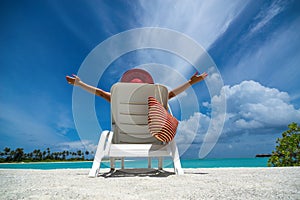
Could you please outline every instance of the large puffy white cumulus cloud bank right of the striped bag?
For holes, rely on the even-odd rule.
[[[288,93],[265,87],[255,81],[224,86],[221,96],[214,96],[212,102],[218,106],[218,102],[224,97],[227,100],[226,116],[216,112],[215,116],[210,117],[196,112],[188,120],[180,122],[176,136],[180,153],[184,153],[194,142],[202,143],[205,147],[200,156],[207,155],[219,135],[216,131],[206,131],[209,126],[213,126],[211,130],[214,130],[214,126],[217,127],[224,118],[223,139],[233,139],[244,134],[249,134],[249,137],[256,134],[276,135],[277,131],[281,131],[289,123],[300,122],[300,109],[294,108]],[[209,106],[208,103],[205,105]]]

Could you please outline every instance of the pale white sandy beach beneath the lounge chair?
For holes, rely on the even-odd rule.
[[[145,170],[0,170],[0,199],[300,199],[300,167]]]

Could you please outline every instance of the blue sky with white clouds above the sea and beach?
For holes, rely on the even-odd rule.
[[[99,128],[90,128],[93,116],[87,112],[86,130],[78,130],[76,89],[65,76],[77,74],[105,41],[145,27],[175,31],[199,44],[223,83],[219,95],[212,95],[214,73],[203,66],[207,80],[170,100],[180,121],[175,139],[183,158],[200,157],[210,124],[219,119],[212,107],[221,98],[226,101],[224,126],[207,158],[271,153],[287,125],[300,124],[297,0],[2,0],[0,27],[0,149],[94,149]],[[118,49],[107,49],[112,51]],[[103,67],[94,86],[106,91],[131,68],[148,70],[169,89],[198,69],[161,49],[136,49]],[[110,129],[110,104],[89,97],[100,130]]]

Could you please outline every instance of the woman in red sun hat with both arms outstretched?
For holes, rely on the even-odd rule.
[[[184,90],[186,90],[187,88],[189,88],[191,85],[194,85],[195,83],[198,83],[202,80],[204,80],[207,77],[207,73],[204,72],[200,75],[198,75],[198,72],[196,72],[189,81],[187,81],[186,83],[180,85],[179,87],[175,88],[174,90],[169,92],[169,99],[175,97],[176,95],[180,94],[181,92],[183,92]],[[83,81],[81,81],[81,79],[76,76],[76,75],[72,75],[72,77],[70,76],[66,76],[66,79],[68,81],[69,84],[71,85],[75,85],[75,86],[79,86],[82,89],[95,94],[97,96],[100,96],[102,98],[104,98],[105,100],[107,100],[108,102],[110,102],[110,93],[106,92],[100,88],[88,85],[86,83],[84,83]],[[121,82],[127,82],[127,83],[149,83],[149,84],[154,84],[153,79],[151,77],[151,75],[142,69],[131,69],[128,70],[127,72],[125,72],[121,78]]]

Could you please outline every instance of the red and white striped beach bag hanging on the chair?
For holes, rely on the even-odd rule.
[[[148,98],[148,127],[152,136],[170,142],[176,134],[178,120],[154,98]]]

